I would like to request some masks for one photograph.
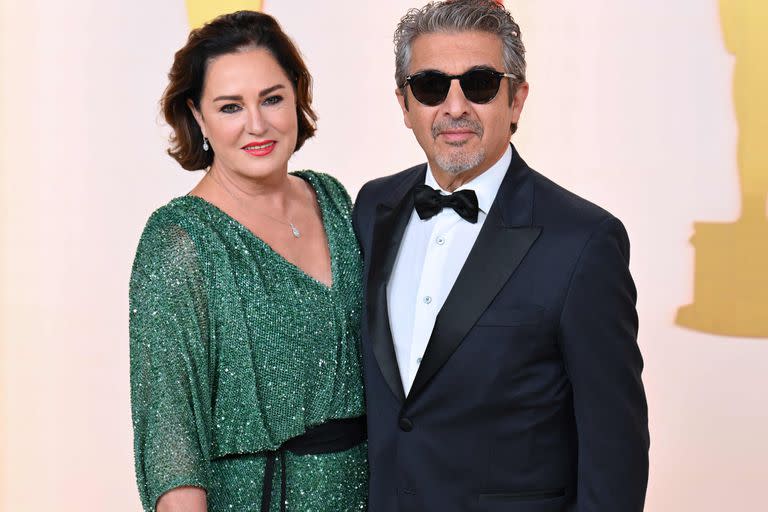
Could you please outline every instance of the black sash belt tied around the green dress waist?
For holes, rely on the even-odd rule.
[[[280,459],[280,511],[285,512],[285,451],[296,455],[318,455],[349,450],[368,437],[365,416],[344,420],[331,420],[312,427],[302,435],[284,442],[277,450],[265,452],[264,486],[261,490],[261,512],[269,512],[272,504],[272,481],[275,462]]]

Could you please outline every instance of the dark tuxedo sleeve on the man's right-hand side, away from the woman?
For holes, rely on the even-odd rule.
[[[577,512],[643,510],[649,434],[636,298],[626,231],[607,218],[582,250],[560,323],[578,434]]]

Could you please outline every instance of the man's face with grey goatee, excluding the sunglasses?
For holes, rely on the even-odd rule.
[[[418,36],[412,45],[408,74],[441,71],[460,75],[472,68],[504,69],[501,39],[485,32],[433,33]],[[405,125],[427,155],[436,176],[468,173],[464,182],[486,171],[504,154],[512,123],[520,118],[528,84],[518,87],[510,102],[508,78],[501,81],[496,97],[486,104],[464,97],[458,80],[451,81],[448,96],[434,107],[423,105],[406,87],[398,90]]]

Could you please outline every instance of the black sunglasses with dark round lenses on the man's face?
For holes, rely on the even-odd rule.
[[[502,78],[517,78],[512,73],[501,73],[493,69],[470,69],[461,75],[447,75],[440,71],[420,71],[405,77],[405,84],[411,86],[413,97],[419,103],[434,107],[445,101],[451,81],[458,80],[464,97],[472,103],[488,103],[499,92]],[[403,86],[405,87],[405,86]]]

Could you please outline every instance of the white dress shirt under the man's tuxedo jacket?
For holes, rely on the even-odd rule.
[[[421,220],[415,210],[411,213],[387,286],[389,326],[406,395],[437,314],[475,244],[511,161],[510,146],[490,169],[456,189],[470,189],[477,194],[477,223],[465,221],[451,208],[427,220]],[[449,193],[437,184],[429,166],[424,181],[442,194]]]

